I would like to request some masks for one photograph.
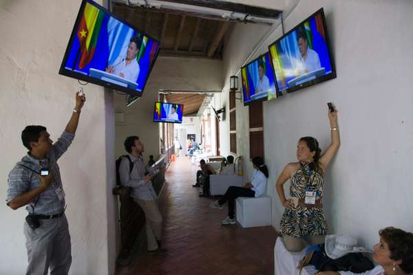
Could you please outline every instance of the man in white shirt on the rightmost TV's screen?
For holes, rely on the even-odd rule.
[[[308,47],[308,39],[305,32],[299,32],[297,34],[297,44],[301,54],[299,61],[303,67],[303,72],[301,74],[313,72],[316,69],[321,68],[320,58],[317,52]]]

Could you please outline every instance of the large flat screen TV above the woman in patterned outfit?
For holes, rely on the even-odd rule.
[[[289,93],[336,77],[323,8],[268,49],[278,92]]]

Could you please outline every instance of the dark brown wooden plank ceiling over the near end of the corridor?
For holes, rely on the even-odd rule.
[[[227,21],[113,3],[116,16],[161,41],[161,55],[222,59]],[[222,45],[220,47],[220,45]]]

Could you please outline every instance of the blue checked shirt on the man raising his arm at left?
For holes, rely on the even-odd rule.
[[[57,159],[65,153],[72,144],[74,134],[63,132],[59,140],[52,145],[52,150],[45,159],[35,159],[30,154],[25,155],[20,162],[10,171],[8,176],[8,190],[6,202],[10,203],[15,197],[30,192],[41,185],[39,175],[32,170],[40,171],[41,167],[48,167],[52,173],[52,184],[34,198],[26,206],[26,210],[33,214],[60,214],[65,209],[65,198],[59,199],[56,190],[63,190],[59,165]],[[24,166],[27,166],[28,169]]]

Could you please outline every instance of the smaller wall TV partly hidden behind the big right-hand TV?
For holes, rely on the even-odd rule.
[[[277,98],[275,78],[268,52],[241,68],[244,105]]]

